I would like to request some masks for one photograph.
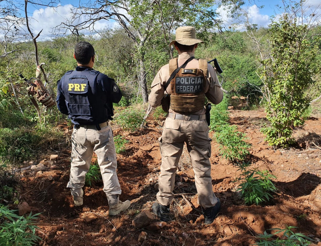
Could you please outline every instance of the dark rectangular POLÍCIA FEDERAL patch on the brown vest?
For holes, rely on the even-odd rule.
[[[176,77],[176,93],[198,93],[203,89],[203,76],[200,77]]]

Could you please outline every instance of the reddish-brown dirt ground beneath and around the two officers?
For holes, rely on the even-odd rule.
[[[253,167],[269,170],[277,177],[278,192],[265,205],[244,205],[236,192],[239,175],[237,168],[218,155],[219,147],[212,141],[213,190],[221,199],[219,216],[210,225],[192,209],[181,195],[171,204],[170,223],[157,231],[148,232],[146,240],[138,242],[141,229],[132,225],[133,218],[142,210],[151,210],[157,193],[160,151],[157,139],[161,135],[160,121],[149,117],[146,127],[135,133],[123,132],[112,125],[114,135],[123,135],[130,142],[126,152],[117,155],[118,178],[122,187],[121,200],[132,202],[128,211],[111,217],[102,183],[85,187],[84,206],[75,208],[66,184],[69,179],[70,149],[52,148],[58,154],[55,169],[21,174],[20,201],[32,207],[32,213],[41,212],[37,220],[37,234],[43,239],[39,245],[251,245],[256,236],[271,228],[296,226],[295,232],[321,238],[321,117],[309,118],[303,127],[294,130],[298,145],[274,151],[260,132],[266,122],[263,110],[230,110],[230,123],[247,134],[252,144]],[[68,132],[68,131],[67,131]],[[210,133],[213,136],[213,133]],[[70,138],[70,131],[66,133]],[[95,157],[92,159],[96,161]],[[49,180],[49,176],[53,179]],[[186,198],[197,208],[197,194],[191,162],[184,148],[176,175],[174,193],[192,193]],[[193,194],[194,193],[194,194]],[[84,217],[97,216],[91,223]],[[268,231],[269,233],[271,231]],[[314,242],[316,245],[317,242]],[[321,244],[321,243],[320,243]]]

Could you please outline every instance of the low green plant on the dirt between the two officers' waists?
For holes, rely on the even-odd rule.
[[[124,130],[134,132],[143,122],[144,115],[144,110],[128,107],[115,116],[115,122]]]

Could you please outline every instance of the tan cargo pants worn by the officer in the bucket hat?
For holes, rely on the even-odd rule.
[[[198,204],[204,208],[214,206],[217,198],[213,193],[211,178],[211,141],[206,120],[180,120],[166,118],[162,136],[159,138],[161,165],[158,177],[157,200],[169,205],[174,197],[173,189],[178,161],[184,142],[191,157],[195,173]]]

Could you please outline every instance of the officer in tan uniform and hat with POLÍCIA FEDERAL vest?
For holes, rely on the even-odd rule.
[[[179,27],[176,39],[170,42],[178,51],[178,59],[160,68],[153,82],[148,102],[152,107],[161,105],[164,93],[170,95],[168,117],[159,138],[161,165],[158,178],[158,203],[152,205],[152,211],[160,220],[169,221],[169,205],[174,197],[173,189],[178,161],[184,143],[191,157],[195,173],[195,185],[198,204],[202,206],[204,223],[210,224],[220,211],[221,202],[213,193],[211,178],[211,139],[205,119],[205,96],[213,104],[219,104],[223,92],[215,69],[206,60],[195,59],[198,43],[195,28]],[[187,63],[186,63],[187,62]],[[186,63],[165,86],[173,71]]]

